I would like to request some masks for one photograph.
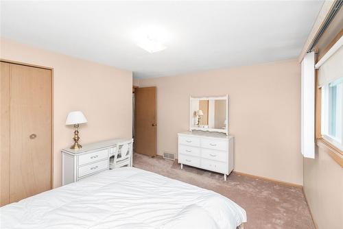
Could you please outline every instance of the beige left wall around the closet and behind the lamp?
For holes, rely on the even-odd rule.
[[[64,125],[71,110],[88,119],[81,143],[132,136],[132,72],[1,39],[0,58],[54,68],[54,186],[61,185],[61,154],[72,143]]]

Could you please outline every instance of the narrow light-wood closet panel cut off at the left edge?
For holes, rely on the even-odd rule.
[[[10,202],[10,64],[0,73],[0,206]]]

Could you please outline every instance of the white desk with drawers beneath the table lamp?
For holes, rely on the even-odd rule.
[[[110,169],[109,158],[115,152],[117,143],[123,141],[130,141],[130,138],[86,144],[78,150],[62,149],[62,185]]]

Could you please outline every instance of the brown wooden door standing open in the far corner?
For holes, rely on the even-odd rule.
[[[135,88],[134,95],[135,152],[156,156],[156,87]]]

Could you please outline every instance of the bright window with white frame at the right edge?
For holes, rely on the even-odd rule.
[[[322,136],[343,150],[343,77],[322,86]]]

